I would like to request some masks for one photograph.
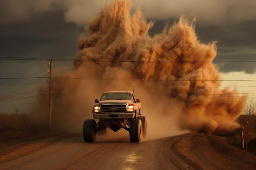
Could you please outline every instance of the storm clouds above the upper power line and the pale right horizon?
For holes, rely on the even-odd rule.
[[[104,5],[102,0],[0,0],[0,55],[73,58],[83,26]],[[218,41],[216,61],[256,60],[254,1],[133,0],[132,5],[132,12],[140,7],[148,21],[155,20],[151,36],[161,33],[166,23],[171,26],[183,14],[196,17],[198,40]],[[222,72],[255,73],[256,67],[254,63],[219,65]]]

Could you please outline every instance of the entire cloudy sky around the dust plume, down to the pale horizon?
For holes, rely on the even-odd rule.
[[[218,42],[214,61],[256,61],[255,0],[131,2],[131,14],[141,9],[144,18],[155,22],[149,30],[150,36],[161,33],[166,24],[172,25],[183,16],[196,20],[198,40]],[[110,0],[0,0],[0,57],[74,59],[78,38],[88,34],[85,29],[88,22],[109,3]],[[41,77],[47,75],[47,64],[47,61],[0,60],[0,77],[29,77],[34,73],[32,77]],[[53,62],[55,74],[72,66],[68,61]],[[256,79],[256,62],[220,63],[218,67],[222,79]],[[32,97],[36,89],[46,84],[45,79],[0,79],[0,113],[13,113],[14,108],[25,113],[36,98],[4,102],[4,97],[20,88],[24,89],[19,92],[25,91]],[[254,86],[253,81],[222,84],[239,86],[241,93],[256,92],[256,87],[244,87]]]

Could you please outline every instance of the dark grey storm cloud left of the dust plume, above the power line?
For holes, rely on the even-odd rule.
[[[63,14],[46,13],[31,22],[0,26],[2,57],[70,57],[77,52],[83,28],[66,23]]]

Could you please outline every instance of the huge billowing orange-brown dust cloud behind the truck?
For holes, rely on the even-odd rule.
[[[195,21],[182,17],[150,37],[154,23],[139,10],[130,15],[130,7],[130,0],[117,0],[89,22],[90,35],[79,38],[74,70],[59,75],[69,79],[54,79],[53,127],[81,132],[84,119],[92,118],[94,99],[104,91],[132,91],[135,86],[141,113],[148,118],[148,139],[186,130],[233,132],[246,96],[218,88],[221,77],[212,63],[216,42],[202,44]],[[35,108],[44,105],[40,112],[47,113],[47,98],[38,100]]]

